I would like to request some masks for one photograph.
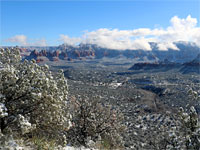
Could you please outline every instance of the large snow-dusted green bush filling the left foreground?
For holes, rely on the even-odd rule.
[[[63,72],[21,62],[17,48],[0,50],[0,129],[54,137],[69,128],[68,85]],[[33,132],[32,132],[33,133]],[[58,134],[57,134],[58,135]]]

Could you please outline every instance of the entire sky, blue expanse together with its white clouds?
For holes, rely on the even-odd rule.
[[[0,0],[0,45],[177,49],[200,45],[199,20],[200,0]]]

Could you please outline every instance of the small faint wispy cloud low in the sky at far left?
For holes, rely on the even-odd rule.
[[[10,43],[18,43],[22,46],[47,46],[45,39],[31,40],[32,42],[28,42],[28,38],[25,35],[15,35],[6,39],[5,41]]]

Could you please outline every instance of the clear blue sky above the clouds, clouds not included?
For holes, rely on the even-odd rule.
[[[191,15],[197,21],[200,18],[198,0],[1,0],[0,5],[1,45],[20,45],[19,41],[8,40],[16,35],[23,35],[32,44],[43,40],[47,45],[59,45],[65,41],[61,35],[73,41],[73,37],[99,29],[166,29],[174,16],[181,19]]]

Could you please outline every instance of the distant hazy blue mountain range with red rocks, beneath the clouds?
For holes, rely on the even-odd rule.
[[[41,57],[47,57],[50,61],[61,60],[82,60],[101,58],[127,58],[135,62],[159,62],[167,59],[170,62],[185,63],[192,61],[199,53],[200,48],[194,43],[178,42],[174,43],[179,50],[168,49],[158,50],[158,43],[150,43],[152,51],[145,50],[115,50],[99,47],[91,44],[80,44],[70,46],[66,44],[57,47],[47,47],[45,50],[32,51],[26,59],[36,59],[42,61]]]

